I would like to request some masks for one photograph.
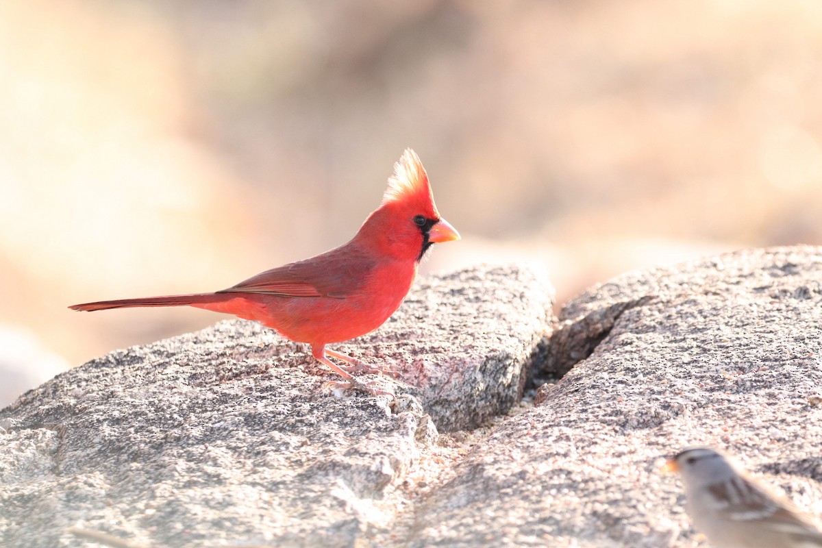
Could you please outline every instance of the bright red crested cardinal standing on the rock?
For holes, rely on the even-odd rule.
[[[88,302],[69,306],[98,311],[132,306],[196,306],[256,320],[299,343],[309,343],[318,361],[346,382],[359,372],[379,372],[363,361],[326,348],[378,328],[408,294],[419,261],[435,242],[459,240],[440,217],[423,164],[405,150],[388,179],[380,207],[353,239],[311,259],[266,270],[213,293]],[[344,361],[339,366],[328,356]]]

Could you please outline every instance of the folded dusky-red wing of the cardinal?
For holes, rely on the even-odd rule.
[[[311,259],[266,270],[220,292],[341,299],[358,292],[372,269],[372,258],[349,242]]]

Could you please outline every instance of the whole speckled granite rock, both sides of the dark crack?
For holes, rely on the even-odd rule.
[[[521,269],[423,280],[339,348],[395,403],[245,322],[92,361],[0,412],[0,545],[707,546],[659,472],[690,444],[822,516],[822,248],[626,274],[546,348],[548,300]],[[504,416],[533,357],[570,371]]]

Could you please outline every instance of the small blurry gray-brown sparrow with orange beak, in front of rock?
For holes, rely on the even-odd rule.
[[[666,469],[681,473],[686,511],[716,548],[822,546],[822,532],[809,518],[715,449],[684,449]]]

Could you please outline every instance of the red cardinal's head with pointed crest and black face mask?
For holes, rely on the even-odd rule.
[[[436,210],[428,175],[417,153],[406,149],[394,165],[382,204],[363,223],[386,252],[417,261],[432,243],[459,240],[459,233]]]

